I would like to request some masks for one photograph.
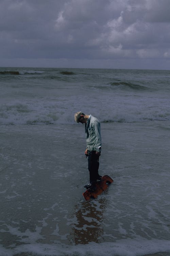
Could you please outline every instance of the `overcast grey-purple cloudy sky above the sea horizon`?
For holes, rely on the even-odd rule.
[[[0,66],[170,69],[170,0],[0,0]]]

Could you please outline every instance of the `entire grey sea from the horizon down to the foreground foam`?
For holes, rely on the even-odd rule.
[[[101,122],[97,199],[83,111]],[[0,256],[170,256],[170,71],[0,68]]]

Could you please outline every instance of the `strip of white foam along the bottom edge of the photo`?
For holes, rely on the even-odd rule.
[[[167,240],[120,240],[115,243],[88,243],[85,245],[66,246],[62,244],[27,244],[20,245],[12,249],[7,249],[0,246],[1,256],[14,256],[24,253],[25,255],[39,256],[139,256],[154,254],[159,252],[169,252],[170,242]],[[168,254],[167,254],[168,255]]]

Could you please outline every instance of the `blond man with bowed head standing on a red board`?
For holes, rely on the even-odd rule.
[[[85,155],[88,156],[88,170],[90,174],[90,183],[85,187],[94,190],[96,181],[101,180],[101,176],[98,173],[99,156],[101,153],[100,122],[96,117],[86,115],[83,112],[75,113],[74,119],[77,123],[85,124],[87,142]]]

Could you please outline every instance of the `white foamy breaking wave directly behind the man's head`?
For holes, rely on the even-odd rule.
[[[63,104],[63,105],[62,105]],[[97,116],[101,122],[110,123],[133,123],[146,120],[170,121],[170,111],[164,109],[135,109],[133,106],[124,108],[120,106],[113,110],[112,105],[103,105],[101,110],[98,108],[88,109],[85,103],[82,104],[87,113]],[[0,124],[74,124],[74,113],[80,109],[75,105],[71,111],[67,98],[62,101],[30,101],[27,104],[15,103],[0,106]]]

